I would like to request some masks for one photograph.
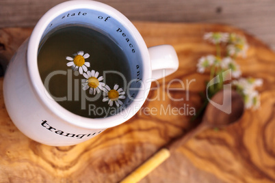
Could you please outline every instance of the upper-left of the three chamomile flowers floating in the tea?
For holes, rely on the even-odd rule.
[[[79,70],[80,74],[83,74],[84,72],[87,72],[88,68],[90,67],[90,63],[88,61],[85,61],[85,59],[88,59],[88,57],[90,57],[90,55],[88,53],[86,53],[84,55],[83,51],[78,51],[77,53],[74,54],[74,58],[73,57],[66,57],[66,60],[68,60],[69,62],[67,63],[67,66],[71,66],[73,68],[73,70]]]

